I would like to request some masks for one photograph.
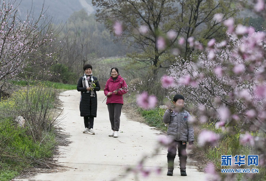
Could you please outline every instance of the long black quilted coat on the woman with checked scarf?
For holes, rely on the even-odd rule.
[[[97,116],[97,94],[96,91],[100,90],[100,84],[97,77],[93,76],[93,80],[96,81],[96,88],[94,89],[95,97],[91,97],[90,93],[87,93],[86,87],[83,87],[83,79],[84,76],[80,77],[77,83],[77,91],[81,92],[80,97],[80,116],[89,116],[96,117]]]

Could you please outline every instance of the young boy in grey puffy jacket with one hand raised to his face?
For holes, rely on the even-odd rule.
[[[173,142],[168,146],[167,154],[167,175],[169,176],[173,175],[176,146],[179,156],[180,173],[181,176],[186,176],[186,142],[189,142],[189,145],[192,145],[194,141],[193,124],[188,121],[190,114],[184,110],[184,101],[184,96],[180,94],[175,95],[173,98],[173,110],[167,109],[163,115],[163,122],[169,123],[167,136],[173,139]]]

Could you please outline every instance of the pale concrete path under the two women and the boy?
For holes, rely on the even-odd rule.
[[[153,152],[158,139],[158,131],[145,124],[129,120],[124,113],[121,114],[121,125],[118,138],[108,137],[111,131],[108,110],[105,103],[103,91],[98,92],[98,111],[94,121],[95,135],[82,133],[84,130],[83,117],[80,117],[79,100],[80,93],[77,90],[68,90],[60,94],[63,102],[65,116],[63,125],[66,132],[70,134],[69,140],[73,143],[62,146],[61,157],[58,162],[70,167],[66,172],[43,173],[26,180],[138,180],[132,173],[124,178],[127,166],[136,166],[143,155]],[[123,109],[122,109],[123,111]],[[161,174],[152,172],[149,177],[138,175],[139,180],[178,180],[193,181],[205,180],[206,174],[197,171],[192,166],[191,159],[187,160],[187,175],[180,176],[178,157],[175,160],[173,176],[167,176],[167,148],[160,148],[160,153],[145,162],[145,169],[160,167]],[[121,179],[119,179],[119,177]]]

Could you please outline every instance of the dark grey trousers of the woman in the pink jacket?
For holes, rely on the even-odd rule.
[[[120,127],[120,115],[123,104],[108,103],[109,119],[111,122],[111,128],[113,131],[119,131]]]

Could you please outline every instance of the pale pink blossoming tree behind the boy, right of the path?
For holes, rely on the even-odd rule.
[[[215,59],[204,53],[198,56],[197,62],[176,58],[168,75],[178,82],[172,94],[183,92],[194,105],[205,107],[209,113],[210,109],[217,112],[223,124],[231,113],[234,116],[230,123],[235,125],[241,116],[246,123],[243,127],[255,124],[266,132],[265,126],[262,126],[264,119],[255,119],[256,115],[265,114],[261,109],[265,106],[266,90],[265,79],[262,78],[265,73],[265,33],[249,31],[247,37],[242,38],[229,35],[225,49],[220,49],[221,43],[213,43]],[[184,65],[181,62],[185,62]],[[205,120],[202,119],[202,122]]]

